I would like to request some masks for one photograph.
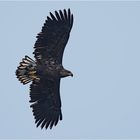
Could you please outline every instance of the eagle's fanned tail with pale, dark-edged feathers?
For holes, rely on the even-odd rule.
[[[29,56],[25,56],[17,67],[16,76],[24,85],[32,80],[38,80],[36,75],[36,62]]]

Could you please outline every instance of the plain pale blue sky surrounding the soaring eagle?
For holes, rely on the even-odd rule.
[[[33,57],[46,16],[70,8],[63,64],[63,121],[36,128],[29,85],[15,77]],[[140,138],[140,2],[0,2],[0,138]]]

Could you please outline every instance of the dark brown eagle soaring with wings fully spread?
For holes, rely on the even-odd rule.
[[[31,82],[30,107],[36,127],[52,128],[62,120],[60,81],[73,76],[62,65],[63,53],[73,26],[70,9],[50,12],[34,44],[35,60],[25,56],[16,70],[22,84]]]

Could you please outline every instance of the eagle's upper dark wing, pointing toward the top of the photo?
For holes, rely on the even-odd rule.
[[[72,25],[73,15],[70,9],[55,11],[55,15],[50,12],[50,17],[47,16],[34,46],[34,55],[38,62],[53,58],[59,64],[62,63],[64,48],[68,42]]]

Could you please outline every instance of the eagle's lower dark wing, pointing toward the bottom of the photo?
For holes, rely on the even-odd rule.
[[[50,81],[41,78],[31,84],[30,102],[37,127],[51,129],[62,120],[59,86],[60,79]]]

